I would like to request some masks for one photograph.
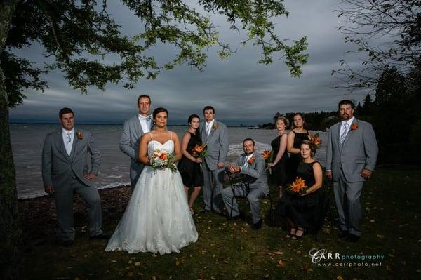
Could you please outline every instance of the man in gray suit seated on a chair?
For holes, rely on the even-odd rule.
[[[269,185],[267,185],[267,176],[265,171],[265,159],[255,152],[255,142],[251,138],[243,140],[244,154],[241,154],[232,166],[227,167],[230,173],[240,173],[241,178],[249,188],[245,187],[227,187],[222,190],[222,199],[227,208],[228,215],[232,213],[232,219],[240,218],[239,206],[236,204],[234,196],[247,196],[250,204],[251,214],[253,215],[253,228],[262,227],[260,218],[259,199],[269,194]],[[233,193],[234,192],[234,193]]]

